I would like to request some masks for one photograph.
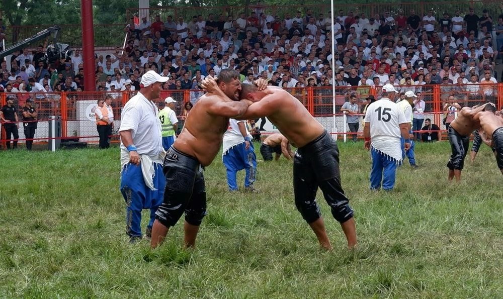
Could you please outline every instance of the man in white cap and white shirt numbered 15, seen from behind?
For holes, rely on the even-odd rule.
[[[409,124],[403,110],[394,103],[398,91],[391,84],[382,87],[382,97],[367,107],[365,114],[365,149],[371,151],[372,170],[370,188],[392,190],[396,167],[402,161],[400,138],[405,140],[405,151],[410,148]]]

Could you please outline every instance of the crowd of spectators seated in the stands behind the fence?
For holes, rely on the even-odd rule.
[[[96,57],[96,90],[137,90],[141,75],[150,69],[170,76],[163,85],[166,90],[198,89],[205,76],[234,68],[243,82],[262,77],[282,87],[335,84],[339,95],[347,99],[355,91],[362,102],[372,88],[386,83],[399,85],[402,92],[423,93],[422,85],[445,84],[445,99],[453,94],[463,100],[482,96],[495,101],[495,60],[503,47],[503,16],[493,20],[487,11],[473,9],[461,13],[439,17],[429,11],[418,16],[414,10],[401,10],[393,17],[389,12],[366,16],[341,10],[333,28],[330,13],[311,10],[294,16],[251,12],[197,15],[191,20],[172,16],[161,20],[157,15],[153,20],[143,17],[137,24],[132,18],[124,29],[129,36],[126,47]],[[83,90],[78,49],[71,58],[48,63],[39,46],[15,53],[7,63],[10,71],[6,62],[0,67],[0,91]],[[198,95],[193,92],[192,99]],[[328,98],[331,103],[331,90]]]

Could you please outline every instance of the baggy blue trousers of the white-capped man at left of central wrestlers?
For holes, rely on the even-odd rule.
[[[121,193],[126,201],[126,234],[130,237],[141,237],[141,210],[150,209],[150,222],[152,228],[155,220],[155,211],[162,204],[166,179],[162,173],[162,165],[154,164],[155,175],[153,178],[156,190],[150,190],[145,185],[141,167],[128,163],[121,173]]]

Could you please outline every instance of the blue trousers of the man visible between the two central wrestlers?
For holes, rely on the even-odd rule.
[[[227,185],[230,191],[237,190],[236,176],[239,170],[245,169],[244,186],[249,187],[255,182],[255,173],[257,171],[257,155],[253,143],[250,142],[250,148],[245,149],[244,142],[238,144],[223,155],[223,165],[227,169]]]

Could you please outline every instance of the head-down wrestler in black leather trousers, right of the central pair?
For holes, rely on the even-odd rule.
[[[258,80],[262,81],[265,80]],[[208,91],[226,96],[214,83],[209,83],[204,84]],[[282,88],[268,86],[261,91],[255,85],[243,84],[241,98],[249,99],[253,104],[238,119],[267,116],[292,145],[298,148],[293,166],[295,205],[315,233],[320,246],[327,250],[332,248],[316,203],[318,187],[323,191],[332,216],[341,223],[348,247],[353,248],[357,243],[354,212],[341,186],[336,142],[299,100]]]

